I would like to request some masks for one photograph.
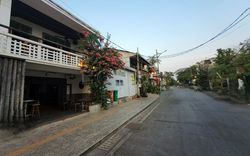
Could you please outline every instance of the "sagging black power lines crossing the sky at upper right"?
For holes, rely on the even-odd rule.
[[[189,53],[189,52],[192,52],[204,45],[206,45],[207,43],[215,40],[216,38],[218,38],[219,36],[221,36],[222,34],[226,33],[227,31],[229,31],[230,29],[232,29],[233,27],[235,27],[238,23],[240,23],[242,20],[244,20],[245,18],[247,18],[250,13],[248,13],[247,15],[245,15],[244,17],[242,17],[247,11],[250,10],[250,7],[247,8],[245,11],[243,11],[239,17],[237,17],[230,25],[228,25],[225,29],[223,29],[220,33],[218,33],[217,35],[215,35],[214,37],[212,37],[211,39],[207,40],[206,42],[198,45],[198,46],[195,46],[194,48],[191,48],[191,49],[188,49],[188,50],[185,50],[185,51],[182,51],[182,52],[179,52],[179,53],[175,53],[175,54],[171,54],[171,55],[165,55],[165,56],[162,56],[161,58],[172,58],[172,57],[177,57],[177,56],[180,56],[180,55],[183,55],[183,54],[186,54],[186,53]],[[241,18],[242,17],[242,18]]]

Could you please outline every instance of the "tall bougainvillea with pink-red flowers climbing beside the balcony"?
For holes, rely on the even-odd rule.
[[[115,70],[122,69],[124,62],[122,55],[115,48],[110,47],[110,36],[105,40],[98,33],[84,31],[80,42],[80,49],[87,50],[88,58],[82,62],[82,71],[91,78],[91,92],[97,103],[107,104],[107,79],[112,77]]]

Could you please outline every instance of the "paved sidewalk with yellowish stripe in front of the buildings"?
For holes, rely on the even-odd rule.
[[[80,155],[158,97],[152,94],[109,110],[78,115],[1,139],[0,155]]]

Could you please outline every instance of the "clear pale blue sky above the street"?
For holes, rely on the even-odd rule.
[[[124,49],[162,56],[193,48],[231,24],[250,0],[54,0]],[[248,12],[250,13],[250,11]],[[162,58],[160,71],[176,71],[215,57],[218,48],[237,48],[250,37],[250,16],[190,53]]]

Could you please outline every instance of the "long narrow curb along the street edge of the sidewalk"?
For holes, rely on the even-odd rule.
[[[111,130],[111,132],[109,132],[107,135],[103,136],[103,138],[101,138],[99,141],[97,141],[96,143],[94,143],[93,145],[91,145],[89,148],[87,148],[86,150],[84,150],[83,152],[81,152],[81,154],[79,154],[79,155],[84,156],[84,155],[88,154],[90,151],[92,151],[93,149],[95,149],[97,146],[99,146],[101,143],[103,143],[106,139],[108,139],[110,136],[112,136],[115,132],[117,132],[119,129],[121,129],[122,127],[124,127],[129,121],[131,121],[133,118],[135,118],[136,116],[138,116],[140,113],[142,113],[144,110],[146,110],[153,103],[155,103],[158,99],[160,99],[160,96],[158,96],[155,100],[153,100],[151,103],[149,103],[145,108],[143,108],[142,110],[140,110],[138,113],[136,113],[135,115],[133,115],[132,117],[130,117],[128,120],[126,120],[125,122],[123,122],[120,126],[118,126],[117,128]]]

